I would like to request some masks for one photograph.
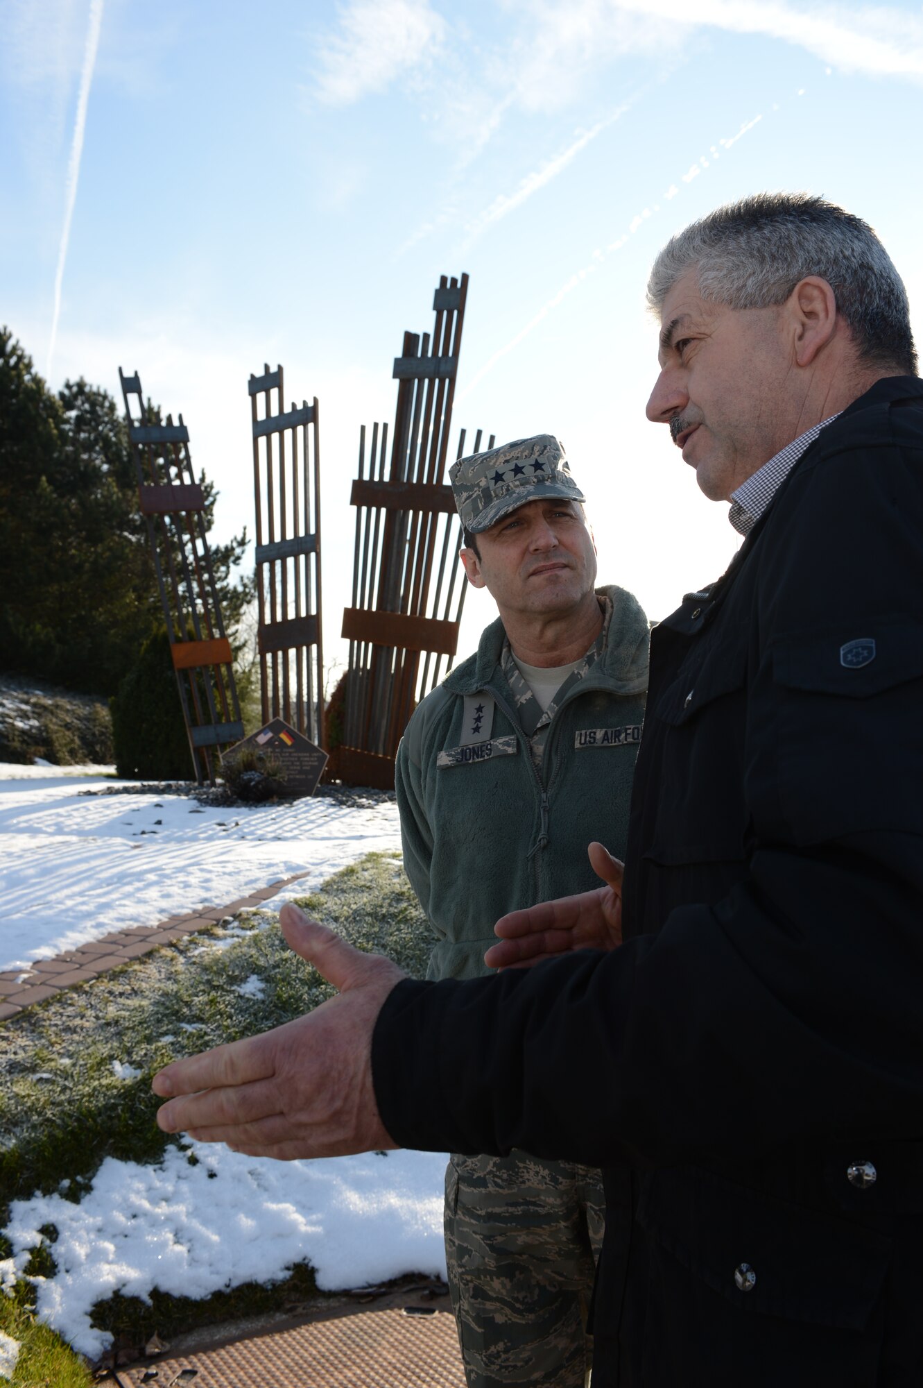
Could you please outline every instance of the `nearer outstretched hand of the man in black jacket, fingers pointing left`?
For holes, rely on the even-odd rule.
[[[396,1146],[376,1103],[371,1033],[403,972],[353,949],[298,906],[283,906],[279,919],[290,947],[338,995],[273,1031],[168,1065],[152,1083],[169,1099],[159,1127],[280,1160]]]

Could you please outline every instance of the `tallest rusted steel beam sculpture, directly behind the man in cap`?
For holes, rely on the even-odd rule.
[[[405,333],[395,359],[398,405],[391,433],[374,425],[359,441],[352,607],[344,740],[338,770],[352,784],[394,786],[394,758],[417,702],[452,666],[464,583],[457,586],[460,541],[452,489],[442,479],[461,346],[468,276],[443,275],[434,296],[432,336]],[[491,443],[493,437],[491,436]],[[366,446],[370,443],[366,471]],[[474,448],[481,447],[478,430]],[[464,451],[464,430],[459,457]],[[385,476],[385,468],[388,468]],[[434,566],[437,569],[432,584]]]

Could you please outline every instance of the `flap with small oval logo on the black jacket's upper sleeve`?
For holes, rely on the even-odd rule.
[[[858,618],[780,641],[772,673],[786,688],[866,698],[923,676],[923,623]]]

